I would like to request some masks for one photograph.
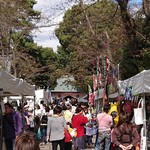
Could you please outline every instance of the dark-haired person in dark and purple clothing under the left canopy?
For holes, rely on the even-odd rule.
[[[21,114],[13,109],[10,103],[4,104],[5,114],[2,120],[3,137],[5,139],[6,149],[13,150],[15,139],[22,131]]]

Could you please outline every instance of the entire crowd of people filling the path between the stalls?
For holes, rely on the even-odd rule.
[[[131,122],[132,113],[109,113],[110,105],[95,114],[92,104],[41,101],[34,109],[28,104],[14,110],[5,103],[3,137],[6,150],[38,150],[52,143],[57,150],[135,150],[140,142],[137,126]],[[114,115],[115,114],[115,115]],[[95,138],[93,138],[95,137]]]

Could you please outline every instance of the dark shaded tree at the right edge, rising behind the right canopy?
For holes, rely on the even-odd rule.
[[[126,35],[126,43],[122,46],[124,54],[121,63],[122,78],[126,79],[143,69],[150,68],[147,61],[150,59],[150,3],[143,0],[140,5],[141,9],[133,15],[133,9],[129,9],[128,0],[117,0],[117,2]],[[135,8],[135,5],[133,6]]]

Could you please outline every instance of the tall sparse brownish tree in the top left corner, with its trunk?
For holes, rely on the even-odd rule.
[[[36,4],[35,0],[1,0],[0,2],[1,55],[2,57],[12,58],[12,70],[16,77],[18,76],[16,68],[17,57],[21,57],[21,52],[25,51],[20,42],[23,39],[31,38],[30,33],[34,28],[32,22],[40,17],[40,13],[33,10],[34,4]],[[25,59],[26,56],[22,57]]]

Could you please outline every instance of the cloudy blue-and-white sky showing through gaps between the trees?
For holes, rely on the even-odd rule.
[[[49,22],[43,20],[40,22],[40,26],[58,24],[62,18],[65,10],[71,7],[72,4],[68,5],[67,0],[37,0],[37,4],[34,9],[42,12],[44,17],[49,18]],[[131,0],[130,4],[136,3],[140,5],[142,0]],[[34,41],[43,47],[52,47],[54,51],[57,50],[59,41],[54,34],[54,30],[57,26],[43,27],[39,30],[33,31]]]

